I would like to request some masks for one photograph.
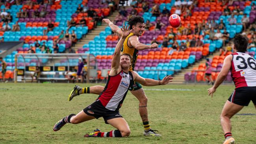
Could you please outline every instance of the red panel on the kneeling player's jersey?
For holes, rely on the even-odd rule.
[[[122,71],[120,73],[122,73]],[[99,100],[104,107],[106,107],[106,105],[114,96],[115,92],[119,87],[119,84],[122,79],[122,76],[120,75],[120,73],[117,74],[116,76],[109,76],[108,85],[105,86],[107,89],[103,91],[102,94],[100,95]]]

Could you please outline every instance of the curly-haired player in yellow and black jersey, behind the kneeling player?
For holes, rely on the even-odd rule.
[[[103,19],[103,22],[106,22],[111,30],[120,36],[122,35],[121,29],[110,22],[109,19]],[[153,43],[151,45],[142,44],[139,42],[139,36],[142,35],[145,24],[143,17],[133,16],[129,22],[131,33],[128,35],[123,43],[121,54],[130,54],[132,55],[132,67],[130,70],[134,70],[135,63],[137,61],[137,56],[139,50],[158,48],[158,44]],[[97,85],[92,87],[81,88],[79,86],[75,86],[74,90],[72,90],[69,94],[69,100],[72,100],[74,96],[84,93],[90,94],[100,94],[104,90],[103,86]],[[156,133],[156,130],[152,130],[149,122],[148,122],[148,112],[147,112],[147,96],[141,85],[134,81],[132,86],[130,87],[130,92],[139,100],[139,114],[141,116],[143,126],[144,126],[144,135],[145,136],[161,136]]]

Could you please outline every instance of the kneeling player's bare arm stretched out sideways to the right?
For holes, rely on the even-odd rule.
[[[154,79],[146,79],[142,78],[141,76],[139,76],[139,74],[137,74],[137,72],[134,71],[132,71],[132,75],[134,76],[134,81],[144,86],[166,85],[167,83],[172,82],[173,79],[171,75],[165,76],[161,81],[157,81]]]

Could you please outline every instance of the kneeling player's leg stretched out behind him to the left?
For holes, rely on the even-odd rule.
[[[54,131],[58,131],[67,123],[71,124],[79,124],[81,122],[85,122],[88,120],[94,119],[94,116],[89,116],[88,114],[84,113],[83,110],[80,111],[78,114],[69,114],[69,116],[66,116],[65,118],[62,118],[59,120],[53,127]]]

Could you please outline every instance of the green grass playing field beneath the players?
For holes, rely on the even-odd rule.
[[[69,102],[68,95],[73,86],[66,83],[1,83],[0,143],[222,144],[224,137],[219,115],[234,89],[234,86],[221,85],[211,99],[207,96],[208,85],[144,87],[147,89],[150,126],[159,130],[162,137],[143,136],[139,102],[128,92],[120,111],[132,131],[130,137],[84,138],[85,133],[96,128],[110,131],[113,127],[104,124],[100,118],[78,125],[67,124],[58,132],[52,130],[58,120],[80,112],[97,97],[83,94]],[[241,113],[255,114],[252,102]],[[232,118],[232,133],[237,144],[256,144],[255,124],[256,115],[235,115]]]

